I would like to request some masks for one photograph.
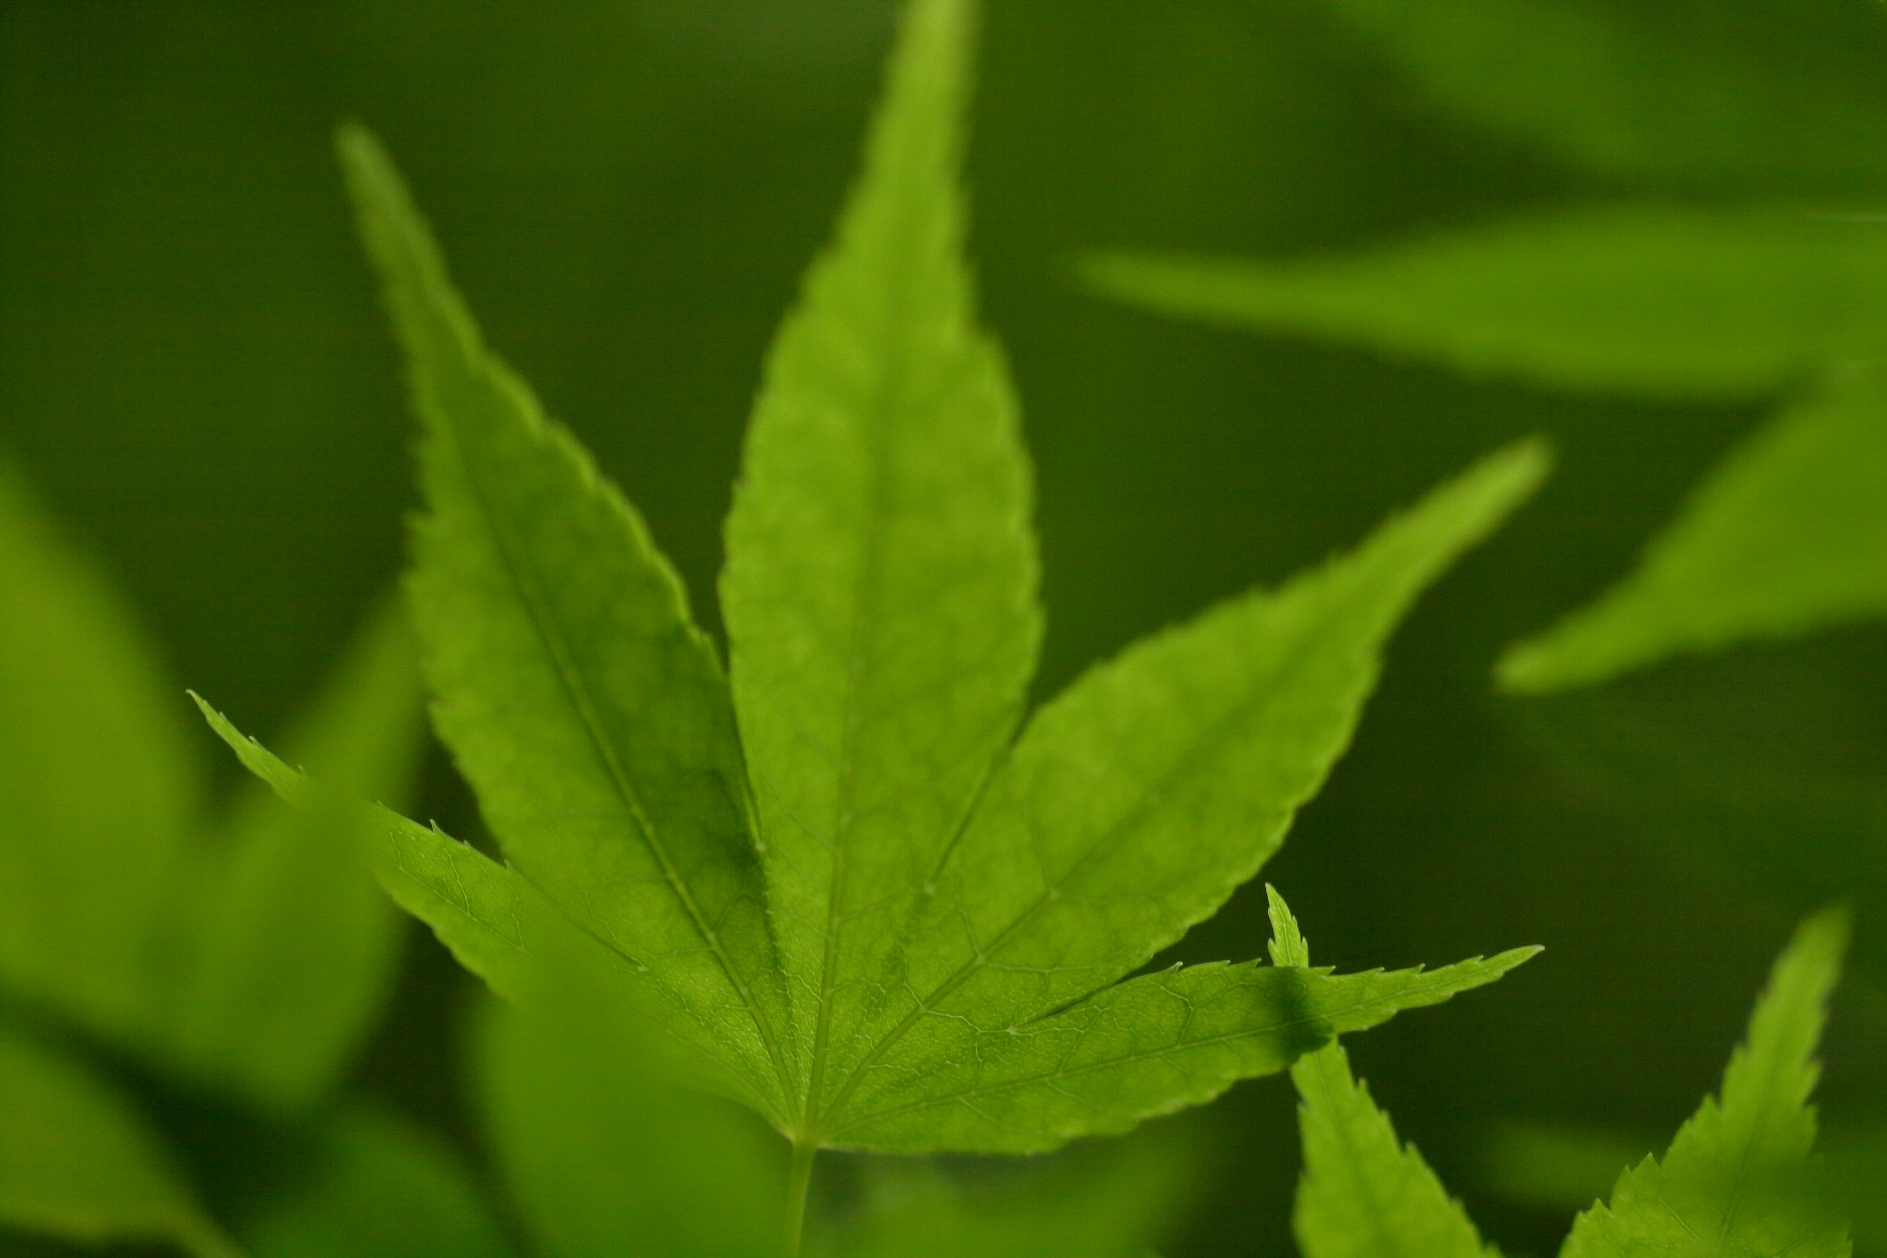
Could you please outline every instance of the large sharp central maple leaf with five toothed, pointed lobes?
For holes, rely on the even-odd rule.
[[[679,583],[483,349],[385,155],[342,140],[426,430],[438,724],[515,862],[389,820],[383,875],[421,868],[389,886],[494,981],[555,968],[528,932],[593,941],[798,1167],[1119,1132],[1525,956],[1119,983],[1277,849],[1394,622],[1545,455],[1498,455],[1353,556],[1094,670],[1010,751],[1040,628],[1013,404],[955,262],[972,28],[966,0],[908,8],[864,185],[770,368],[726,581],[757,805]]]

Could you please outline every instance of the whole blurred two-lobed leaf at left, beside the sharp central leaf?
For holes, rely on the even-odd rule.
[[[311,1101],[377,1013],[398,941],[359,836],[260,788],[228,834],[202,834],[177,698],[11,473],[0,560],[0,979],[196,1083]],[[387,796],[417,736],[411,645],[389,621],[294,741],[338,786]]]

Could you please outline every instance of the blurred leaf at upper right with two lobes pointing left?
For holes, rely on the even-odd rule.
[[[1111,257],[1168,313],[1364,343],[1468,373],[1645,396],[1815,381],[1700,487],[1642,568],[1502,662],[1513,690],[1887,613],[1887,238],[1781,211],[1611,209],[1310,262]],[[1829,364],[1840,364],[1830,372]]]

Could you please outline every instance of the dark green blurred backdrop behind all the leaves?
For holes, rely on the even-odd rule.
[[[1498,649],[1621,573],[1761,413],[1170,324],[1093,300],[1072,266],[1100,247],[1298,255],[1621,198],[1887,213],[1887,13],[1540,0],[1621,23],[1640,68],[1681,47],[1802,104],[1712,96],[1710,74],[1664,96],[1627,83],[1623,111],[1593,119],[1613,155],[1593,174],[1525,119],[1459,121],[1344,8],[989,4],[974,249],[1040,479],[1040,685],[1283,579],[1500,441],[1555,439],[1559,475],[1400,634],[1357,747],[1264,875],[1327,964],[1547,947],[1353,1054],[1491,1239],[1551,1252],[1570,1209],[1496,1194],[1491,1134],[1578,1122],[1661,1145],[1715,1086],[1793,920],[1829,898],[1862,915],[1825,1111],[1887,1117],[1887,634],[1498,698]],[[491,341],[715,622],[760,355],[855,168],[891,21],[889,0],[4,0],[0,445],[130,588],[175,675],[279,728],[394,579],[413,502],[398,364],[330,158],[334,123],[359,117]],[[423,815],[476,834],[434,760]],[[1249,958],[1264,935],[1247,888],[1176,956]],[[466,994],[415,937],[362,1083],[470,1145]],[[1210,1179],[1168,1252],[1285,1250],[1289,1083],[1193,1120]]]

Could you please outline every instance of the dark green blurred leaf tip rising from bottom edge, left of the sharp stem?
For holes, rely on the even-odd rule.
[[[436,1137],[372,1105],[319,1134],[311,1166],[238,1224],[249,1258],[504,1258],[481,1184]]]

